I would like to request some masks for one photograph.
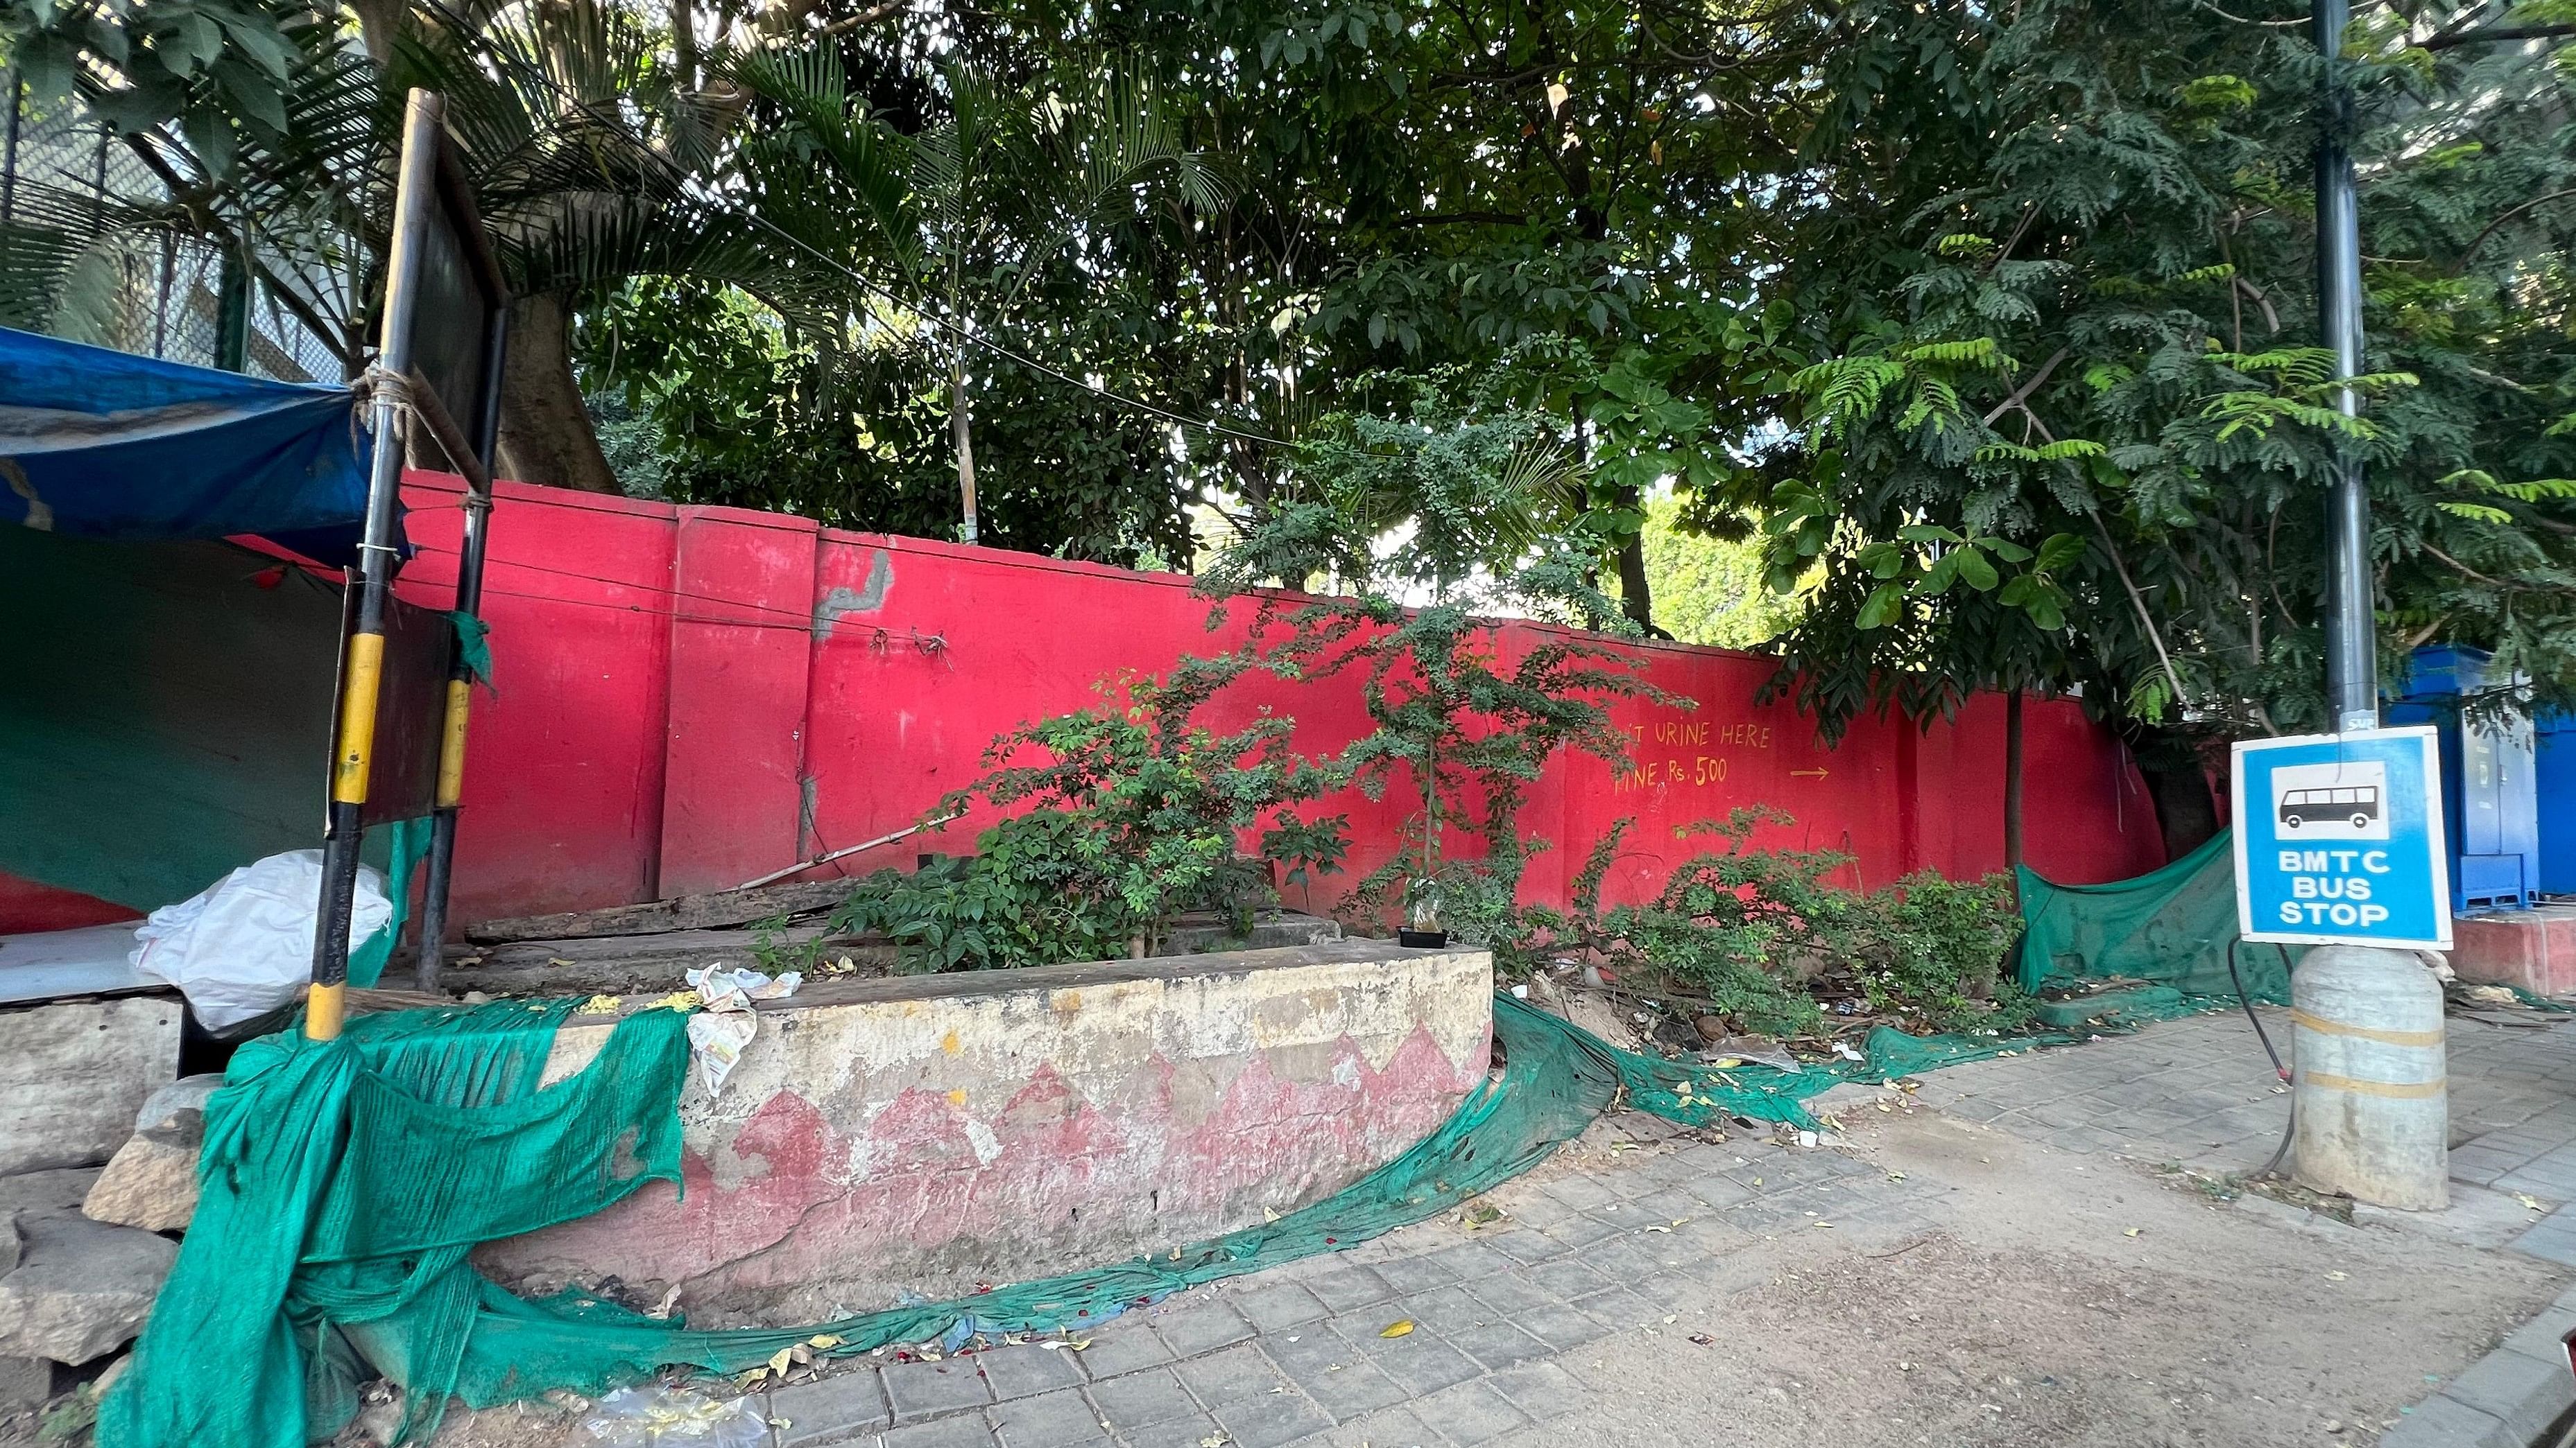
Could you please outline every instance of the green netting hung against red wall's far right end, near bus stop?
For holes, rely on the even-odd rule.
[[[2182,992],[2161,1015],[2236,997],[2287,1002],[2290,966],[2272,946],[2236,938],[2236,850],[2226,832],[2161,871],[2112,884],[2050,884],[2025,866],[2022,989],[2087,979],[2138,979]]]

